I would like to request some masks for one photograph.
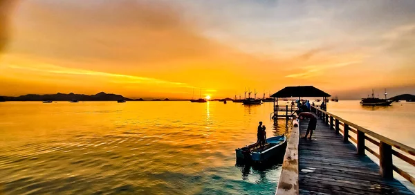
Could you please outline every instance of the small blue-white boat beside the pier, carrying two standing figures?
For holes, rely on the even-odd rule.
[[[257,143],[254,143],[235,149],[237,162],[263,163],[277,154],[282,154],[287,146],[286,136],[268,138],[266,142],[264,147],[260,147]]]

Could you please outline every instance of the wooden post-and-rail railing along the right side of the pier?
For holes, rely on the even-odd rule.
[[[342,132],[344,142],[349,142],[349,139],[355,142],[357,145],[357,153],[359,155],[364,156],[365,151],[369,151],[369,153],[379,158],[380,174],[383,178],[394,178],[393,171],[396,171],[396,173],[400,174],[400,176],[403,176],[403,178],[415,185],[415,178],[402,169],[396,167],[392,160],[392,156],[396,156],[406,163],[409,163],[409,165],[415,166],[415,160],[409,157],[415,156],[414,148],[403,145],[400,142],[396,142],[384,136],[380,136],[378,133],[360,127],[357,124],[344,120],[337,115],[333,115],[332,113],[322,109],[318,109],[315,106],[311,106],[311,111],[313,111],[317,117],[320,117],[325,124],[330,125],[330,129],[333,129],[335,133]],[[343,128],[340,129],[340,126]],[[353,138],[353,136],[350,136],[350,132],[356,134],[356,139]],[[365,145],[365,140],[378,146],[379,153],[367,147]]]

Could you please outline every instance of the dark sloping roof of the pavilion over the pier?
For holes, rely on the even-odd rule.
[[[331,95],[314,86],[286,86],[271,97],[331,97]]]

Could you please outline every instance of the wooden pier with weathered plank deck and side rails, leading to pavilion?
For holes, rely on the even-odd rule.
[[[415,149],[321,109],[312,107],[312,111],[320,118],[317,131],[310,141],[302,138],[308,120],[293,127],[276,194],[414,194],[394,179],[395,171],[415,184],[412,176],[394,165],[392,156],[415,166]],[[378,152],[365,141],[377,145]],[[380,159],[380,166],[366,151]]]

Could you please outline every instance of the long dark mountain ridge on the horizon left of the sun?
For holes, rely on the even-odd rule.
[[[28,94],[20,95],[19,97],[4,97],[6,101],[117,101],[117,100],[131,100],[122,95],[100,92],[95,95],[84,95],[75,93],[57,93],[47,95]]]

